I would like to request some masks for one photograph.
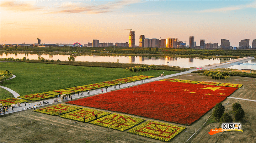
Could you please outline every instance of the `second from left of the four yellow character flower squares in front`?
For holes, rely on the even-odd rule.
[[[71,119],[71,120],[76,120],[76,121],[81,121],[81,122],[84,121],[84,117],[85,117],[85,122],[90,122],[92,120],[95,120],[95,114],[97,114],[97,118],[101,118],[101,117],[109,115],[111,113],[94,110],[94,109],[89,109],[89,108],[83,108],[83,109],[75,110],[75,111],[60,115],[60,117],[66,118],[66,119]]]

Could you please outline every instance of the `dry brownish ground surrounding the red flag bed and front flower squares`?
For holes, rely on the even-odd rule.
[[[189,76],[192,75],[192,76]],[[198,74],[187,74],[177,76],[175,78],[190,79],[197,81],[217,81],[206,76],[198,76]],[[243,84],[244,87],[236,90],[230,97],[238,97],[245,99],[256,100],[256,79],[242,78],[230,76],[227,80],[218,80],[218,82],[227,82],[235,84]],[[188,142],[191,143],[255,143],[256,139],[256,102],[244,101],[238,99],[227,98],[222,103],[225,105],[225,112],[228,112],[233,116],[232,104],[238,102],[242,105],[245,111],[245,118],[240,123],[242,124],[242,130],[228,131],[217,133],[215,135],[209,135],[208,132],[212,128],[219,128],[220,124],[214,122],[201,128]],[[57,103],[59,104],[59,103]],[[52,104],[51,104],[52,105]],[[50,105],[49,105],[50,106]],[[45,107],[45,106],[44,106]],[[117,130],[110,130],[109,128],[92,125],[89,123],[75,122],[60,118],[58,116],[46,115],[42,113],[35,113],[33,109],[24,110],[12,114],[1,115],[1,143],[10,141],[8,143],[160,143],[162,141],[150,139],[142,136],[129,134],[126,131],[121,132]],[[213,110],[213,109],[212,109]],[[185,126],[183,132],[174,137],[170,142],[184,143],[190,138],[195,130],[198,130],[212,114],[212,110],[208,111],[198,121],[194,122],[190,126]],[[111,112],[114,113],[114,112]],[[124,114],[126,115],[126,114]],[[136,116],[134,116],[136,117]],[[138,117],[142,118],[142,117]],[[145,120],[152,120],[144,118]],[[157,120],[155,120],[157,121]],[[163,122],[163,121],[161,121]],[[167,122],[166,122],[167,123]],[[173,123],[171,123],[173,124]],[[174,124],[178,125],[178,124]],[[181,125],[184,126],[184,125]]]

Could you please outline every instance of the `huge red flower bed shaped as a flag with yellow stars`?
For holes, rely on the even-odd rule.
[[[190,125],[237,89],[155,81],[66,103]]]

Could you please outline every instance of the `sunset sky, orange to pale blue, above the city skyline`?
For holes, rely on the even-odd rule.
[[[129,41],[129,31],[145,38],[194,36],[206,43],[256,39],[256,1],[14,1],[1,0],[1,44],[74,44]]]

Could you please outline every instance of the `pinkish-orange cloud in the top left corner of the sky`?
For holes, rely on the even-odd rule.
[[[6,8],[11,11],[33,11],[41,8],[35,7],[29,3],[17,2],[17,1],[1,1],[1,8]]]

